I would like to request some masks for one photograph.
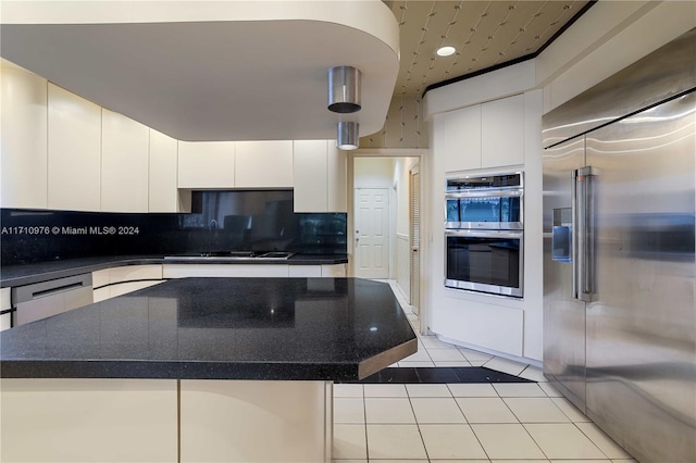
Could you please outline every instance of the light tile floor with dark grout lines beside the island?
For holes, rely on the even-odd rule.
[[[393,366],[485,366],[537,383],[334,385],[334,462],[635,463],[538,367],[418,336],[419,352]]]

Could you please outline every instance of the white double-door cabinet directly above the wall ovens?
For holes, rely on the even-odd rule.
[[[437,135],[439,134],[439,135]],[[524,96],[451,111],[438,117],[435,136],[445,172],[524,164]]]

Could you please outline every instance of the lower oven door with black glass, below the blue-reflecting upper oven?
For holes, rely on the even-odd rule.
[[[445,286],[523,296],[522,230],[447,230],[445,239]]]

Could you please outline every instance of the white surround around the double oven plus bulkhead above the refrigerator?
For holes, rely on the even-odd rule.
[[[430,221],[431,234],[428,261],[424,263],[427,275],[423,281],[430,286],[424,303],[430,313],[428,327],[435,334],[482,350],[542,360],[542,114],[693,27],[696,27],[696,2],[601,1],[536,59],[426,93],[424,109],[431,124],[432,159],[430,200],[423,220]],[[444,227],[437,213],[443,208],[445,178],[438,114],[513,93],[524,93],[525,103],[523,300],[444,287]]]

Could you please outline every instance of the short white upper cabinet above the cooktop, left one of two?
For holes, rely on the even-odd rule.
[[[234,141],[179,141],[179,188],[234,188]]]

